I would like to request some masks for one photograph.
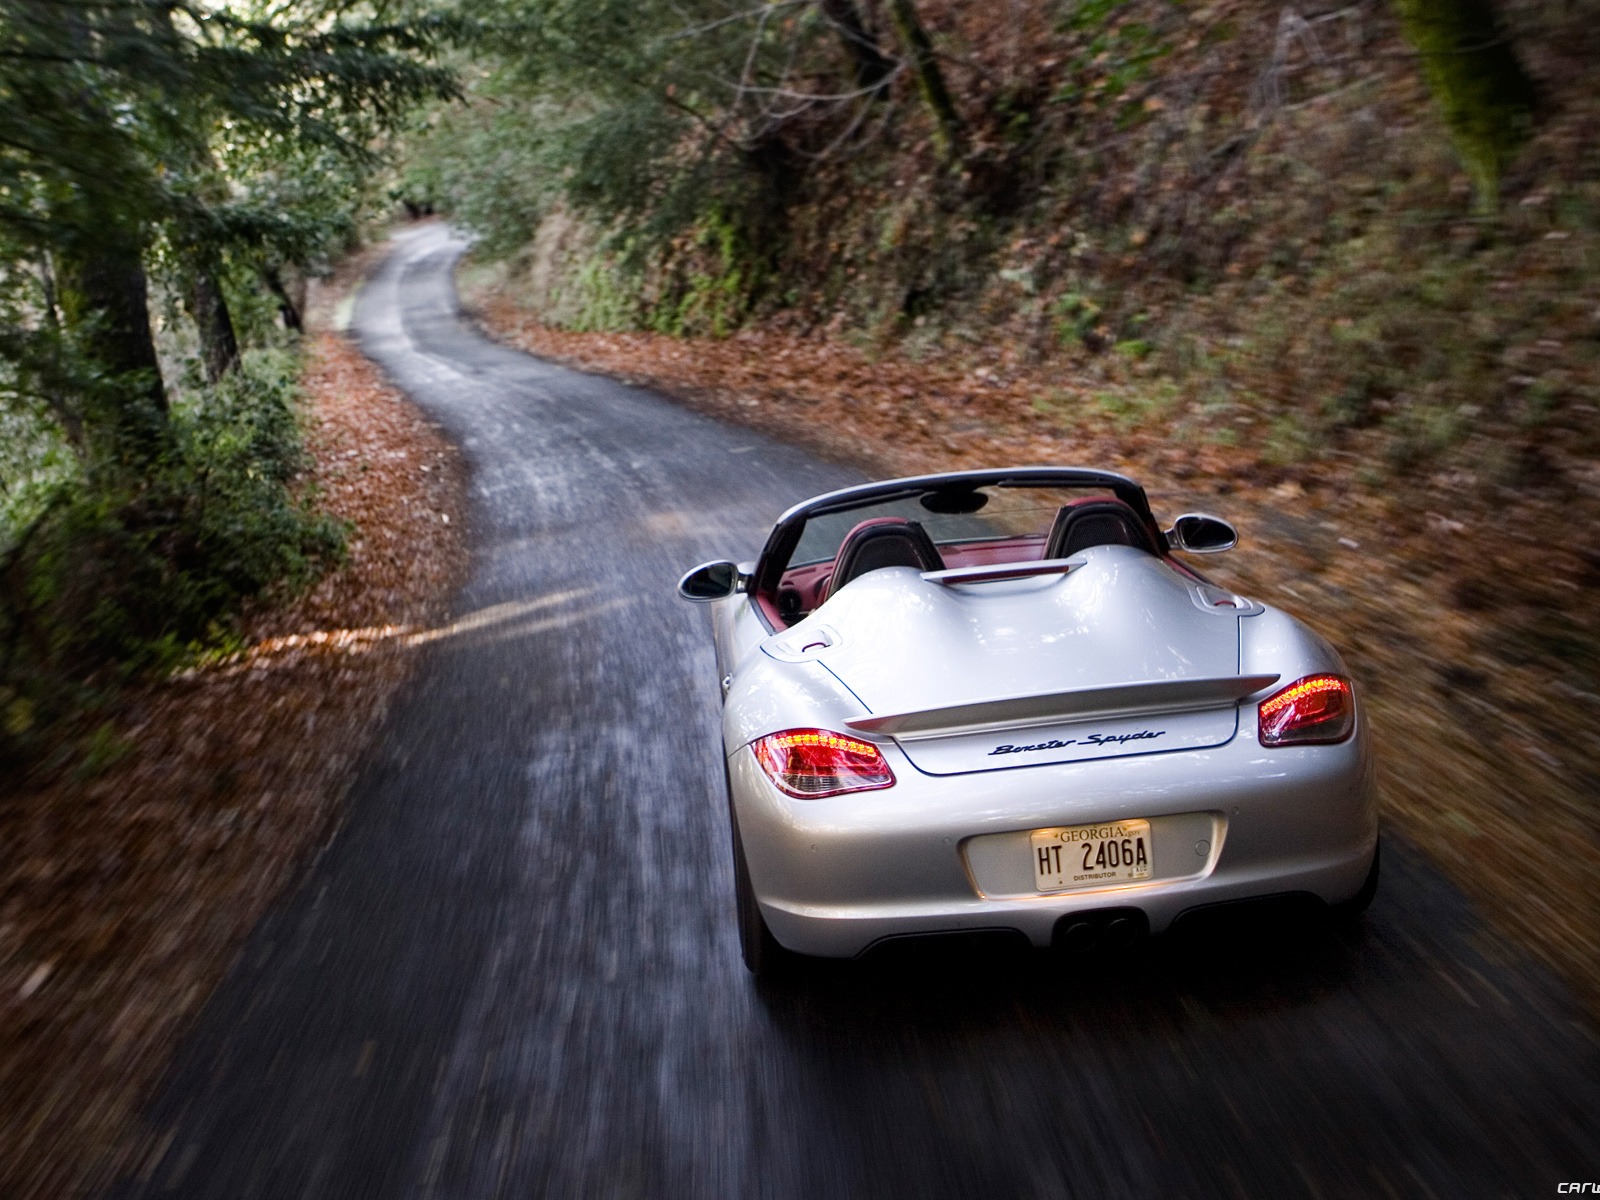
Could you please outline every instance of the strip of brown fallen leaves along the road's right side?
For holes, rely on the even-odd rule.
[[[1146,483],[1162,515],[1230,517],[1245,546],[1200,565],[1342,650],[1378,734],[1389,826],[1600,1013],[1600,694],[1554,678],[1549,658],[1498,648],[1507,630],[1536,640],[1552,614],[1600,643],[1600,555],[1571,546],[1597,528],[1594,496],[1581,512],[1571,501],[1496,510],[1448,485],[1386,496],[1355,485],[1357,464],[1266,467],[1245,446],[1173,438],[1160,422],[1130,429],[1096,397],[1101,382],[994,350],[918,363],[778,330],[581,334],[539,325],[493,285],[470,301],[533,354],[653,384],[878,475],[1098,466]]]

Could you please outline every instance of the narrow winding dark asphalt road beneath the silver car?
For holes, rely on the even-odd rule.
[[[475,560],[349,821],[118,1197],[1550,1197],[1600,1050],[1403,845],[1363,928],[1123,960],[739,965],[686,566],[854,477],[486,342],[398,238],[362,346],[466,448]]]

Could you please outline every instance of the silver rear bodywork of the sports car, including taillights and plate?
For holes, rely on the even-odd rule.
[[[1338,656],[1245,600],[1190,619],[1182,605],[1221,605],[1133,554],[1090,555],[1053,595],[949,597],[883,571],[853,584],[862,611],[830,603],[845,634],[774,643],[790,690],[765,718],[786,728],[731,696],[728,746],[750,882],[784,947],[850,957],[978,930],[1048,946],[1085,922],[1162,931],[1208,904],[1362,890],[1374,766]],[[746,686],[773,699],[765,670]]]

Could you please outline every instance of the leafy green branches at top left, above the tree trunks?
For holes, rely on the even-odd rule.
[[[328,198],[334,160],[346,165],[334,179],[370,166],[379,134],[453,91],[448,72],[418,58],[450,22],[365,26],[315,5],[270,19],[240,11],[0,0],[8,234],[50,246],[101,237],[91,218],[130,229],[182,218],[218,242],[302,251],[334,216],[304,203]]]

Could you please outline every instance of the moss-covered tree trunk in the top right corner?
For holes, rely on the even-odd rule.
[[[1538,93],[1490,0],[1395,0],[1406,38],[1472,174],[1478,208],[1493,213],[1499,182],[1528,139]]]

